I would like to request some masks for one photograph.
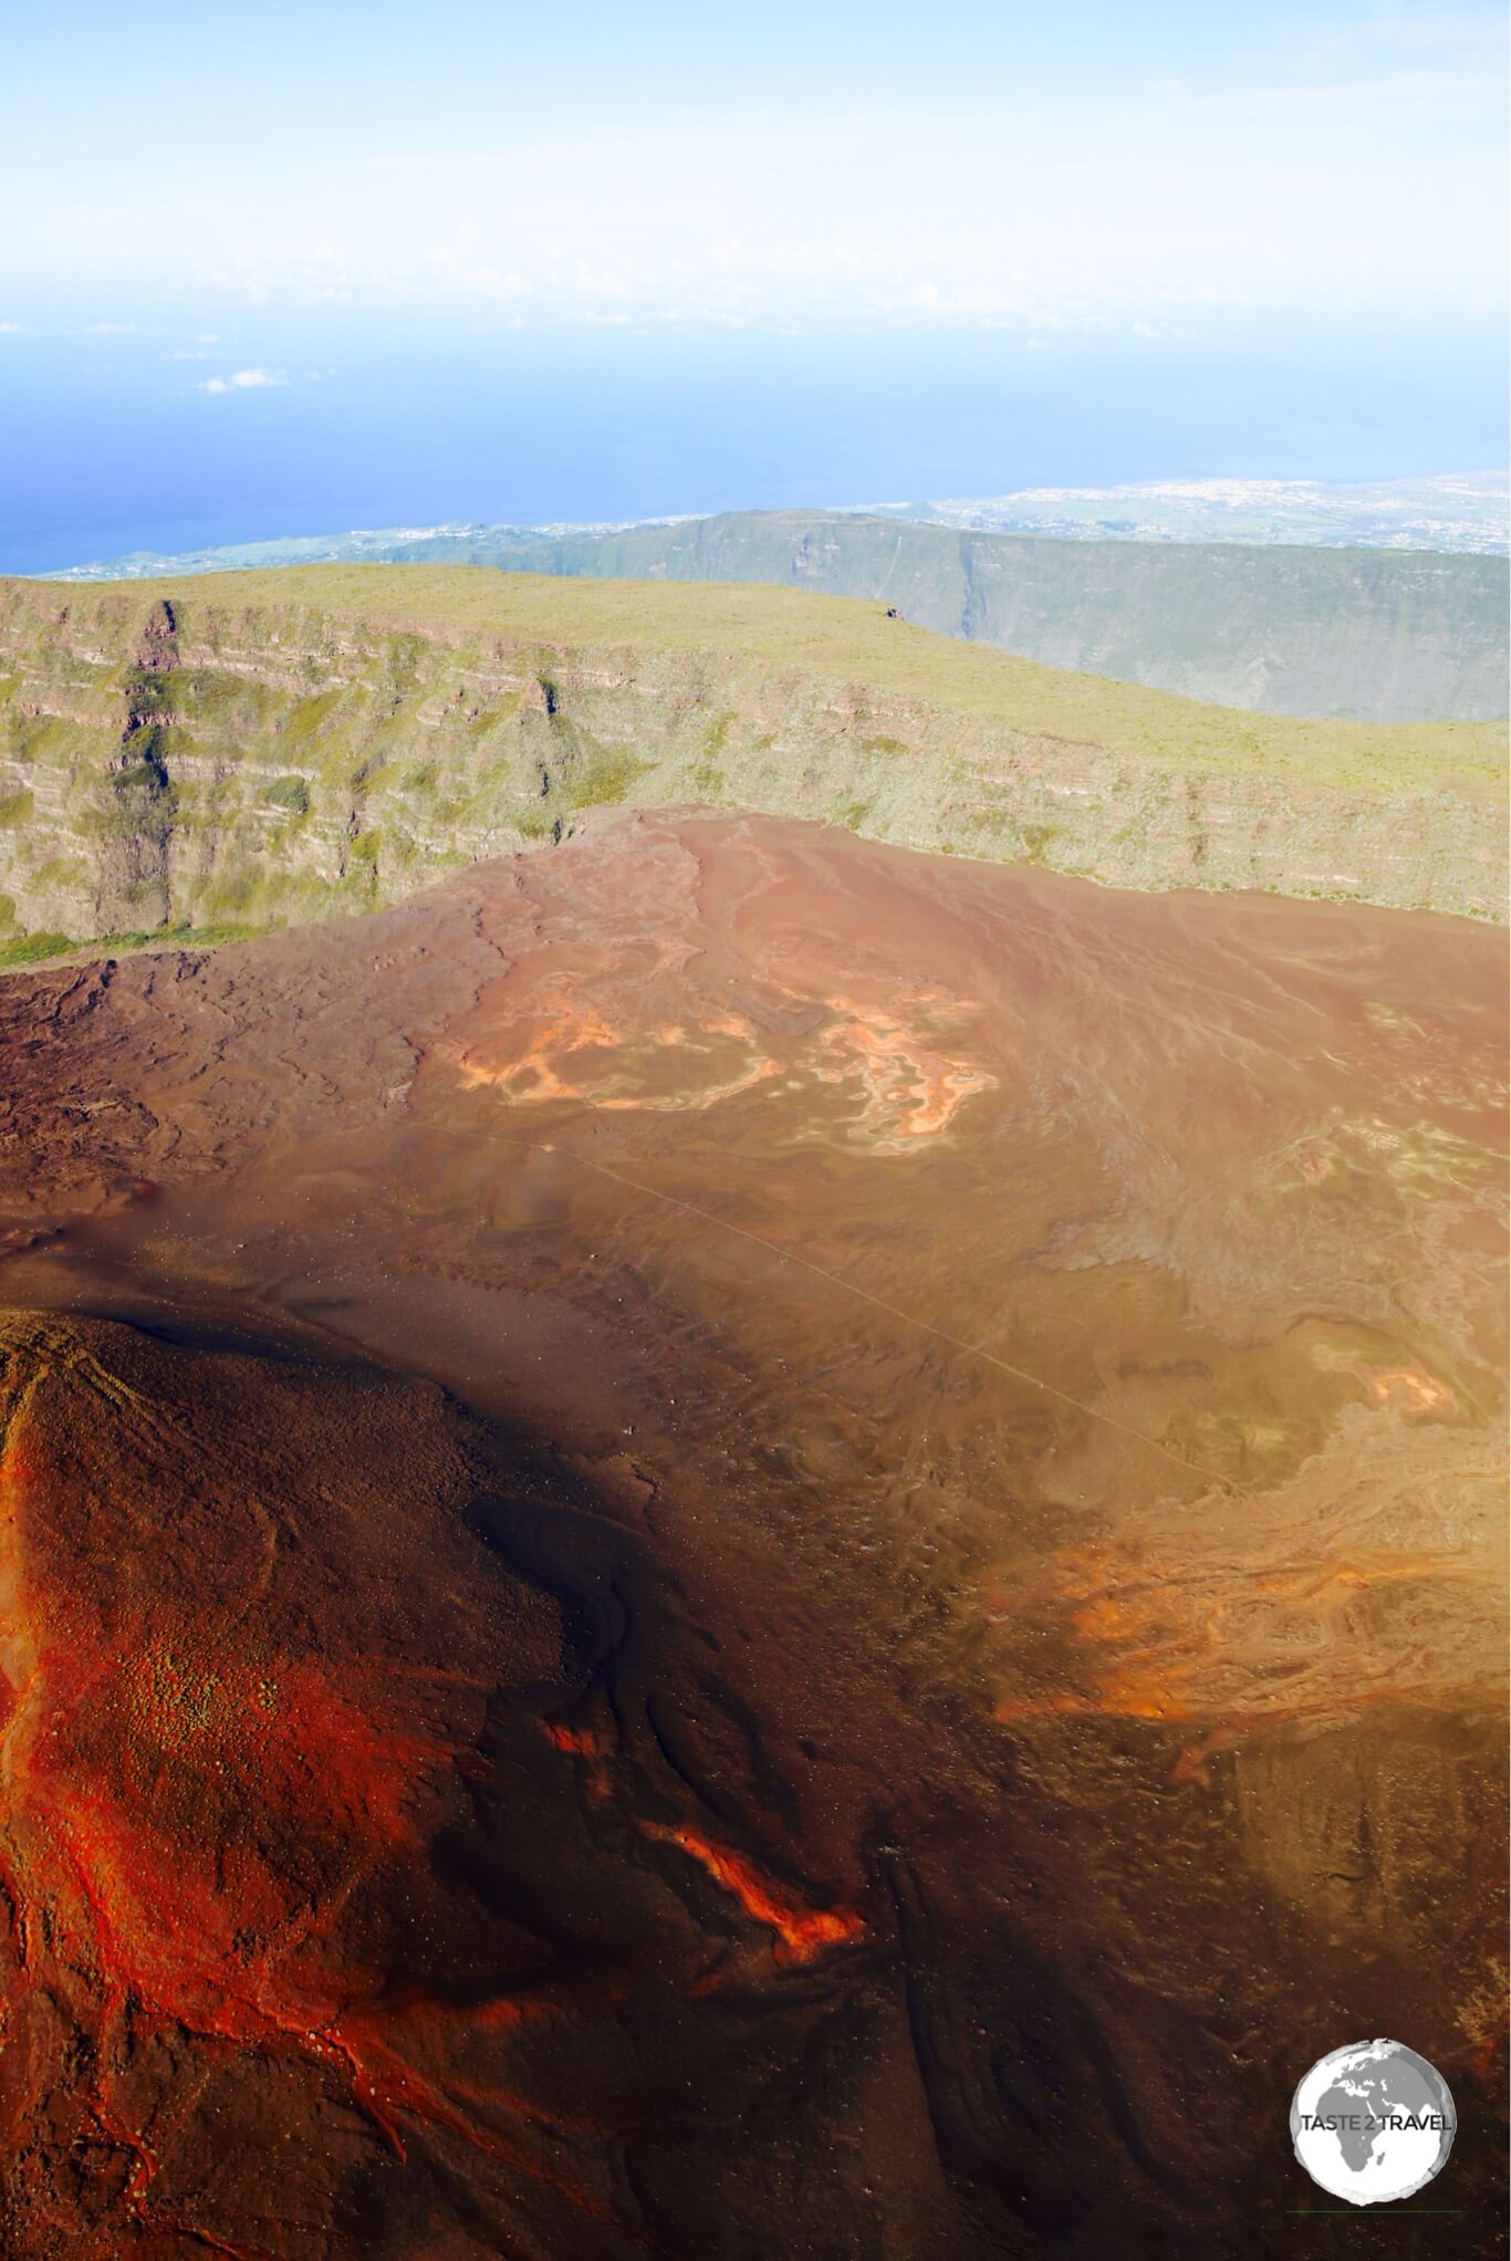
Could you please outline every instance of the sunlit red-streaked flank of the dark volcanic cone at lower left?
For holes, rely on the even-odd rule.
[[[133,2232],[262,2250],[156,2209],[158,2157],[195,2098],[192,2082],[143,2098],[154,2037],[335,2073],[398,2157],[405,2123],[430,2125],[565,2191],[498,2128],[541,2107],[461,2078],[480,2035],[545,2008],[389,1999],[385,1879],[455,1811],[502,1657],[541,1678],[556,1655],[538,1594],[495,1594],[486,1626],[498,1574],[437,1522],[466,1454],[434,1395],[233,1359],[163,1370],[100,1327],[11,1325],[2,1350],[0,2062],[25,2250],[54,2234],[118,2252]],[[428,1492],[396,1517],[385,1488],[414,1445]],[[464,1605],[448,1578],[473,1587]],[[68,2134],[43,2132],[59,2112],[129,2159],[100,2227],[59,2186]],[[606,2214],[588,2191],[572,2202]]]

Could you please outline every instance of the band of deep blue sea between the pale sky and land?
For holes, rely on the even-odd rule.
[[[215,330],[213,344],[197,332]],[[181,359],[195,350],[204,359]],[[262,369],[226,393],[204,380]],[[0,337],[0,570],[486,520],[620,520],[1504,459],[1497,326],[1203,339],[38,312]]]

